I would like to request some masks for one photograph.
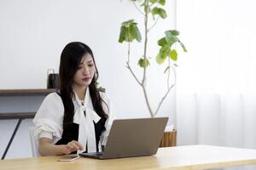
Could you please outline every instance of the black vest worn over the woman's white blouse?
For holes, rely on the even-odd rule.
[[[59,93],[57,93],[59,94]],[[61,94],[59,94],[61,96]],[[61,97],[62,99],[62,97]],[[62,99],[63,101],[63,99]],[[84,114],[86,115],[85,111]],[[98,144],[100,142],[100,137],[102,135],[102,132],[106,130],[105,128],[105,119],[100,119],[99,122],[95,123],[94,122],[94,127],[95,127],[95,137],[96,137],[96,151],[99,151]],[[85,133],[85,132],[84,132]],[[67,129],[63,130],[61,139],[58,140],[55,144],[67,144],[68,142],[71,142],[72,140],[79,140],[79,124],[77,123],[72,123],[67,126]],[[86,145],[86,150],[84,152],[87,152],[87,145]],[[76,152],[73,152],[76,153]]]

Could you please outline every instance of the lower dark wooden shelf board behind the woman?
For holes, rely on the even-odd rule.
[[[0,113],[0,120],[6,119],[32,119],[36,112],[15,112],[15,113]]]

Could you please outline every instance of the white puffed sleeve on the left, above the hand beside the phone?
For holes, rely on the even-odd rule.
[[[53,139],[54,143],[61,139],[64,106],[61,97],[56,93],[46,96],[33,119],[34,135],[38,138]]]

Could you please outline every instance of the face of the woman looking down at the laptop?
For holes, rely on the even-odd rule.
[[[79,70],[73,77],[74,85],[79,87],[89,86],[95,72],[96,68],[91,55],[89,53],[84,54],[79,63]]]

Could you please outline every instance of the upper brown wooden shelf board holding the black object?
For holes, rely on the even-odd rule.
[[[44,89],[1,89],[0,96],[36,96],[55,92],[55,88]]]

